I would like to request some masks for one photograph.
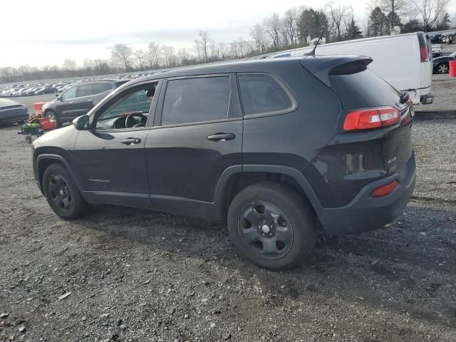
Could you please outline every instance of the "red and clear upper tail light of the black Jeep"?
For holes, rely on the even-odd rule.
[[[393,125],[399,121],[399,110],[394,107],[379,107],[354,110],[343,122],[344,130],[370,130]]]

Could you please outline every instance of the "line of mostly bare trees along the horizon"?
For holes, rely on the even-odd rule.
[[[119,43],[108,59],[89,59],[78,66],[66,59],[61,66],[36,68],[0,68],[0,82],[27,81],[46,78],[98,76],[111,73],[156,70],[198,63],[224,61],[309,46],[326,28],[326,43],[383,36],[399,27],[401,33],[440,31],[452,27],[447,13],[450,0],[370,0],[363,22],[356,19],[351,6],[329,2],[321,9],[302,6],[283,15],[271,14],[252,26],[249,36],[232,42],[215,42],[208,31],[199,31],[193,48],[151,41],[145,50],[134,50]]]

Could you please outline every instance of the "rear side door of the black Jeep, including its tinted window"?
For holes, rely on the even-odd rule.
[[[242,115],[234,75],[165,81],[145,142],[152,206],[211,216],[228,167],[242,165]]]

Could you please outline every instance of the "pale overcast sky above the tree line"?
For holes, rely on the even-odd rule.
[[[353,6],[363,20],[366,1]],[[214,41],[249,38],[250,28],[274,11],[322,6],[315,0],[0,0],[0,67],[61,65],[66,58],[109,58],[116,43],[147,43],[192,50],[199,30]],[[318,4],[318,5],[316,5]]]

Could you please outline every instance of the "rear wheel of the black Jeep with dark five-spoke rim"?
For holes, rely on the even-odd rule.
[[[298,192],[278,182],[259,182],[234,197],[229,235],[239,252],[266,269],[291,269],[311,254],[316,220]]]

